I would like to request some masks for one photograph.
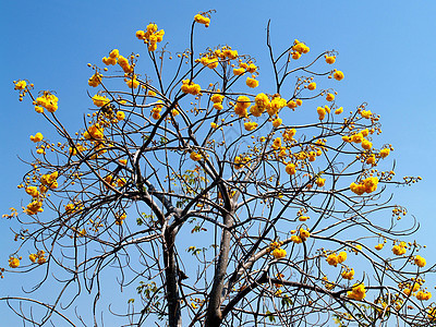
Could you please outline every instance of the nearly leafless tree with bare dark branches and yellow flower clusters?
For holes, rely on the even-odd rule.
[[[50,304],[1,300],[28,303],[14,308],[25,320],[75,325],[82,313],[66,313],[86,290],[98,325],[102,276],[114,270],[120,289],[136,292],[128,326],[432,324],[424,277],[434,266],[408,242],[416,221],[402,228],[407,209],[386,195],[420,178],[395,179],[393,148],[366,104],[350,113],[337,105],[337,52],[296,66],[310,48],[295,39],[275,55],[268,24],[275,85],[258,92],[253,57],[229,46],[197,53],[194,31],[210,14],[195,15],[175,58],[156,24],[136,32],[146,73],[138,55],[117,49],[104,69],[89,64],[98,92],[78,132],[57,118],[53,92],[14,82],[60,141],[31,136],[37,149],[20,185],[29,203],[4,215],[22,225],[9,266],[44,270],[35,290],[61,288]]]

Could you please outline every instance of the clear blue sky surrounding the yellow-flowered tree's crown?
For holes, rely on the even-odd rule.
[[[412,189],[398,189],[392,203],[405,205],[416,216],[422,225],[420,241],[432,247],[423,255],[427,263],[436,263],[435,1],[2,1],[0,213],[21,207],[24,196],[16,185],[26,166],[19,157],[31,158],[28,136],[46,126],[28,98],[19,102],[12,81],[27,78],[36,89],[56,90],[59,118],[77,129],[89,107],[88,62],[99,63],[113,48],[145,53],[134,33],[149,22],[165,29],[170,50],[182,51],[194,14],[209,9],[217,13],[198,36],[203,48],[231,45],[256,57],[261,73],[270,69],[265,56],[269,19],[278,49],[298,38],[311,52],[339,51],[337,66],[346,73],[338,87],[341,106],[352,109],[368,102],[368,109],[382,116],[384,140],[395,147],[397,174],[423,178]],[[14,221],[0,220],[0,267],[7,266],[16,245],[9,230],[13,227]],[[17,288],[20,280],[9,274],[0,281],[0,296]],[[3,303],[0,316],[10,326],[16,324]]]

